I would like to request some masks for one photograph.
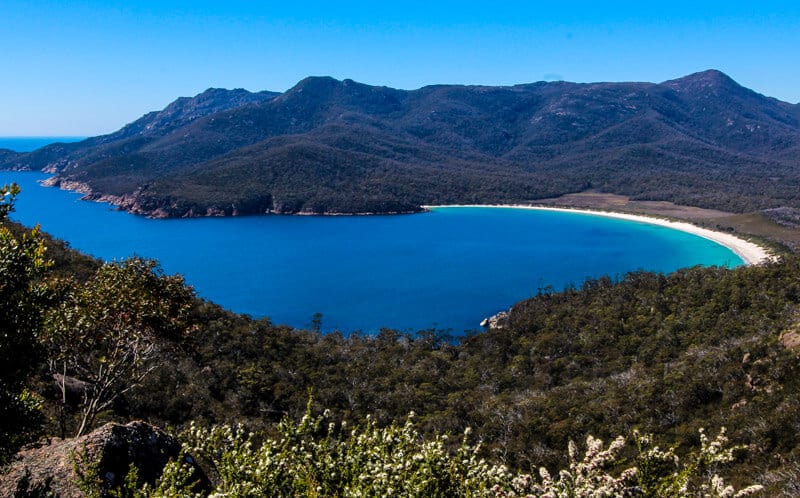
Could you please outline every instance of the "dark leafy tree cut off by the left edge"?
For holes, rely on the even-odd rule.
[[[19,187],[0,188],[0,463],[38,424],[35,398],[25,389],[39,358],[37,333],[49,266],[38,227],[20,237],[5,226]]]

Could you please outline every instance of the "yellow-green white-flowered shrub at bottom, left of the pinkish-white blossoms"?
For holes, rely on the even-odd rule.
[[[410,419],[383,429],[367,419],[339,434],[323,422],[284,420],[260,445],[230,426],[191,426],[184,437],[189,453],[213,463],[223,496],[458,496],[488,493],[505,475],[466,443],[450,455],[446,436],[424,441]]]

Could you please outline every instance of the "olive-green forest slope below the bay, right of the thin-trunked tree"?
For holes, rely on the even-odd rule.
[[[267,430],[285,414],[301,417],[313,388],[343,418],[371,414],[385,425],[415,411],[425,434],[470,426],[483,457],[551,470],[583,434],[639,428],[681,455],[699,445],[699,428],[726,426],[751,448],[731,463],[732,484],[770,475],[779,494],[794,485],[783,458],[800,445],[800,364],[779,341],[797,321],[797,275],[800,261],[787,256],[589,280],[519,303],[504,329],[456,341],[431,331],[320,335],[203,304],[185,354],[166,356],[172,368],[147,379],[146,397],[127,400],[152,420]]]

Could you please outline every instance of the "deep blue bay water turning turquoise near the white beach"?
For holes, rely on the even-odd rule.
[[[438,208],[401,216],[151,220],[0,172],[23,191],[12,218],[105,260],[156,258],[231,310],[324,330],[437,327],[454,335],[548,286],[695,264],[737,266],[706,239],[560,212]]]

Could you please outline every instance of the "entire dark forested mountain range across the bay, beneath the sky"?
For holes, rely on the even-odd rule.
[[[209,90],[0,167],[45,169],[156,216],[404,212],[587,189],[745,212],[800,207],[800,105],[714,70],[412,91],[310,77],[280,95]]]

